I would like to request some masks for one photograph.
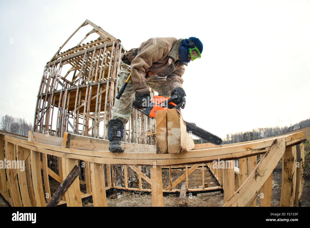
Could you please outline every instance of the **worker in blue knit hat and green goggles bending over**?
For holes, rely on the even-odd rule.
[[[123,63],[118,79],[119,89],[130,73],[131,80],[111,111],[112,119],[108,122],[109,151],[124,151],[121,141],[124,137],[124,124],[128,122],[131,115],[131,105],[146,108],[145,104],[148,102],[145,101],[151,99],[148,87],[165,97],[177,95],[175,104],[182,101],[183,96],[186,96],[182,88],[184,65],[187,66],[190,60],[199,59],[202,48],[201,41],[196,37],[150,38],[139,48],[133,48],[122,56]],[[132,102],[134,95],[135,99]]]

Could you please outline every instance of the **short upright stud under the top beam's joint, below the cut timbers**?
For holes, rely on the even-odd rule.
[[[151,189],[152,189],[152,205],[153,207],[163,207],[162,199],[162,167],[151,166]]]

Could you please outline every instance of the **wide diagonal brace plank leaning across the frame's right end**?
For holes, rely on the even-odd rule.
[[[256,199],[256,194],[267,181],[273,169],[285,151],[285,137],[274,139],[274,142],[266,152],[263,159],[250,173],[248,179],[240,186],[238,191],[223,206],[246,207],[250,206]]]

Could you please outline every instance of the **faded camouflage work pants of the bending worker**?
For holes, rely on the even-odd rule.
[[[129,65],[122,64],[121,72],[118,76],[118,89],[121,89],[126,82],[130,72],[128,71]],[[159,77],[154,75],[146,78],[146,85],[152,88],[161,96],[170,97],[171,90],[166,81],[166,77]],[[120,119],[123,123],[127,123],[131,115],[131,105],[134,99],[135,91],[133,90],[132,80],[128,85],[119,100],[116,99],[115,104],[111,110],[112,119]]]

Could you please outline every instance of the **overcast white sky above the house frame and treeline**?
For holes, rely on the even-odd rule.
[[[309,12],[297,0],[1,1],[0,117],[33,123],[45,64],[88,19],[127,50],[151,37],[201,40],[183,75],[186,121],[222,138],[299,122],[310,117]]]

